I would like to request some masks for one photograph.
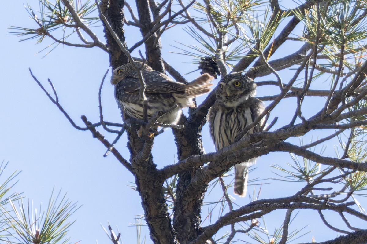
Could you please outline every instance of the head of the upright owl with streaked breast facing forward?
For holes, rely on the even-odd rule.
[[[217,88],[217,101],[227,107],[237,107],[256,94],[256,84],[245,75],[229,74],[222,78]]]

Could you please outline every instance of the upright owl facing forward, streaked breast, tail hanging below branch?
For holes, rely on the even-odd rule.
[[[208,119],[217,151],[232,144],[237,135],[264,111],[264,104],[254,97],[255,93],[255,82],[244,75],[226,75],[219,82],[217,100],[210,108]],[[263,123],[264,120],[247,134],[259,132]],[[236,195],[246,195],[248,167],[254,163],[256,158],[235,165]]]

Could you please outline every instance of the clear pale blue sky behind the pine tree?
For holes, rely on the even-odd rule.
[[[0,6],[5,11],[0,22],[1,43],[1,89],[0,89],[0,161],[9,161],[7,172],[11,174],[14,170],[21,170],[14,191],[24,192],[23,196],[34,199],[34,205],[41,202],[46,204],[52,189],[67,196],[78,205],[83,205],[71,219],[77,219],[70,230],[72,242],[81,240],[81,243],[109,243],[108,237],[103,232],[100,223],[107,226],[107,221],[113,227],[119,226],[121,240],[125,244],[136,243],[135,227],[128,226],[134,223],[135,215],[143,213],[138,193],[131,189],[130,185],[134,178],[121,166],[113,155],[103,158],[106,149],[90,132],[79,131],[73,128],[57,107],[51,103],[48,97],[37,86],[30,76],[28,68],[51,93],[47,78],[53,82],[59,96],[59,101],[70,117],[79,126],[83,126],[81,115],[86,115],[92,122],[97,122],[98,114],[98,88],[103,74],[109,67],[107,53],[99,48],[76,48],[59,45],[49,55],[42,58],[46,52],[41,51],[52,42],[45,40],[41,44],[35,44],[35,40],[19,42],[16,36],[8,35],[8,27],[35,26],[28,17],[23,7],[23,1],[1,1]],[[37,10],[38,1],[29,0],[28,3]],[[103,40],[103,34],[97,30],[99,37]],[[135,36],[138,32],[126,32],[128,44],[139,38]],[[171,30],[167,36],[175,34]],[[183,38],[185,34],[183,33]],[[129,43],[130,41],[130,43]],[[185,40],[184,40],[185,41]],[[181,59],[186,56],[176,54],[167,55],[168,51],[177,51],[169,44],[171,40],[163,37],[164,58],[172,65],[179,67],[182,73],[187,73],[196,68],[190,64],[182,64]],[[191,60],[186,59],[185,62]],[[110,74],[110,73],[109,73]],[[199,73],[188,75],[188,80],[196,77]],[[264,79],[266,80],[266,79]],[[215,81],[216,83],[217,81]],[[325,85],[325,84],[324,84]],[[266,93],[259,89],[260,95]],[[204,97],[200,97],[199,102]],[[291,109],[287,101],[283,101],[280,107]],[[102,90],[102,105],[105,120],[110,122],[121,122],[120,112],[113,96],[113,86],[109,83],[109,75]],[[283,108],[284,110],[284,108]],[[293,110],[292,110],[293,111]],[[281,108],[273,112],[282,114],[284,121],[293,115],[285,114]],[[274,115],[274,116],[275,116]],[[102,132],[102,129],[99,128]],[[113,141],[113,135],[102,132],[108,140]],[[295,139],[298,140],[298,139]],[[116,148],[129,159],[126,148],[126,134],[117,143]],[[207,126],[203,129],[203,143],[206,152],[214,151],[214,145],[208,135]],[[164,146],[164,147],[163,147]],[[162,150],[163,148],[163,150]],[[331,152],[334,150],[330,145]],[[176,146],[170,130],[167,130],[155,140],[153,157],[158,167],[177,162],[175,155]],[[167,153],[168,152],[168,153]],[[284,154],[283,154],[284,156]],[[283,158],[275,154],[266,155],[258,160],[257,169],[251,178],[265,179],[274,174],[271,173],[270,164],[282,164],[291,162],[289,156]],[[1,181],[1,179],[0,179]],[[269,181],[262,181],[269,182]],[[262,186],[262,197],[286,196],[301,188],[301,184],[292,185],[275,182]],[[297,188],[296,188],[297,187]],[[286,191],[287,190],[290,191]],[[249,186],[251,194],[254,186]],[[256,186],[259,189],[259,186]],[[214,196],[215,198],[215,196]],[[248,203],[248,197],[238,199],[239,206]],[[46,207],[46,206],[44,206]],[[203,207],[203,212],[207,206]],[[280,214],[280,215],[279,215]],[[284,212],[270,214],[269,219],[277,219],[274,227],[279,226]],[[205,216],[205,214],[203,214]],[[301,214],[309,217],[308,212]],[[312,222],[310,217],[309,223]],[[314,221],[320,221],[317,216]],[[268,221],[271,222],[271,221]],[[269,223],[272,226],[272,223]],[[271,229],[271,228],[269,228]],[[315,229],[315,226],[307,229]],[[323,234],[325,233],[325,234]],[[315,235],[317,241],[323,240],[331,233],[328,229],[315,230],[308,234],[305,240],[310,241]],[[148,237],[148,236],[147,236]],[[330,238],[335,237],[332,234]],[[150,243],[148,237],[147,243]]]

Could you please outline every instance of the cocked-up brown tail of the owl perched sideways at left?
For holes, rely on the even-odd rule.
[[[213,79],[214,77],[207,73],[200,75],[195,80],[185,85],[185,96],[196,97],[209,92],[211,90],[210,86],[213,85],[210,81]]]

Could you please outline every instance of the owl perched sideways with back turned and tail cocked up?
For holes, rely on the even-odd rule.
[[[146,84],[148,119],[159,111],[167,111],[177,105],[177,108],[157,120],[167,125],[177,125],[182,114],[181,108],[195,107],[193,98],[210,91],[212,83],[209,81],[213,79],[209,74],[202,74],[196,80],[183,84],[172,81],[167,75],[153,70],[146,64],[143,65],[141,72]],[[132,118],[143,119],[143,102],[139,96],[140,83],[131,63],[113,70],[111,83],[115,85],[115,97],[120,108]]]

